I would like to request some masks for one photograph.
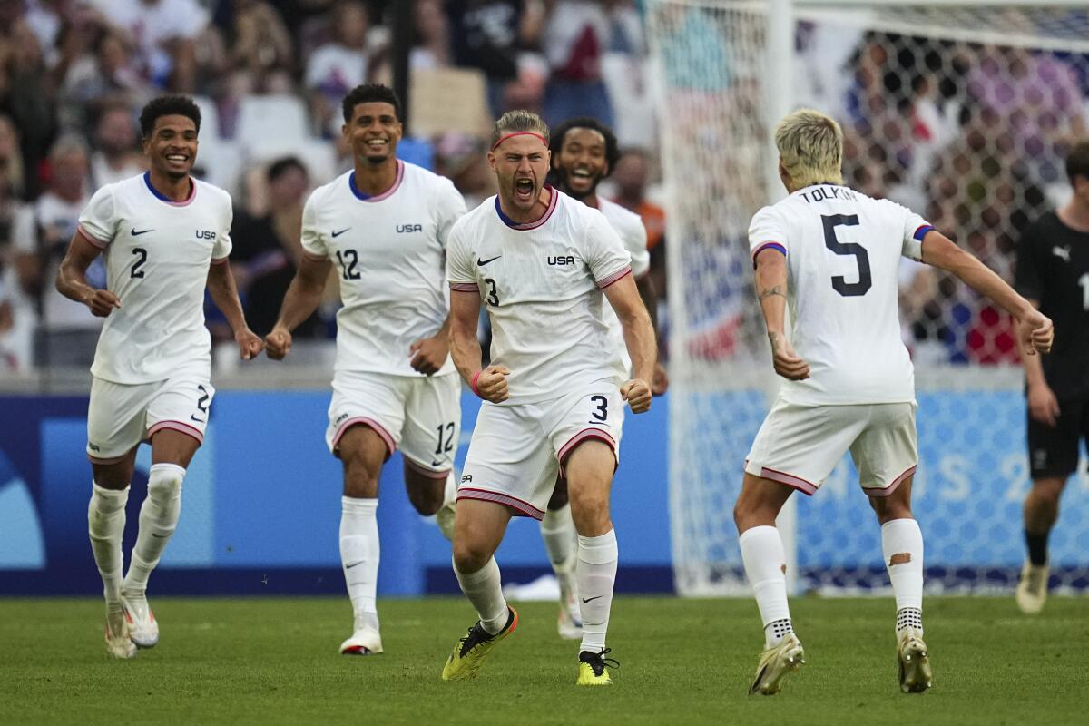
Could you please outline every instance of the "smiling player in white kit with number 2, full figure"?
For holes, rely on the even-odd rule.
[[[62,294],[106,318],[90,369],[87,456],[95,481],[87,518],[105,586],[106,644],[117,657],[159,640],[147,580],[178,526],[185,468],[204,440],[216,395],[206,286],[242,357],[261,350],[227,263],[231,197],[189,175],[200,111],[188,98],[166,96],[144,107],[139,121],[149,171],[95,193],[57,278]],[[86,279],[99,254],[105,290]],[[152,464],[122,578],[125,503],[142,441],[151,443]]]

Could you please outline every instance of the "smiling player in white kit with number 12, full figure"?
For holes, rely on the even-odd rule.
[[[340,551],[354,613],[345,655],[382,652],[378,611],[378,478],[400,446],[408,499],[439,514],[452,536],[461,381],[449,355],[446,237],[465,212],[450,180],[401,161],[401,101],[386,86],[344,98],[354,170],[315,189],[303,211],[303,251],[280,317],[266,337],[282,359],[291,331],[340,270],[337,367],[326,441],[344,467]]]

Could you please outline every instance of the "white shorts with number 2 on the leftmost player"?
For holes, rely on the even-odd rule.
[[[215,396],[216,389],[203,371],[180,370],[166,381],[136,384],[91,377],[87,456],[96,464],[113,464],[163,429],[204,443]]]

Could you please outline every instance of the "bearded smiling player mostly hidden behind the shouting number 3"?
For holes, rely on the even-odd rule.
[[[658,334],[658,294],[650,276],[650,253],[647,250],[647,230],[639,216],[620,205],[598,196],[598,184],[609,176],[620,159],[620,145],[612,130],[596,119],[576,118],[564,121],[552,130],[549,141],[552,155],[550,181],[564,194],[592,207],[604,214],[610,226],[624,243],[632,256],[632,276],[639,291],[639,297],[650,313],[650,324]],[[624,331],[612,307],[602,309],[605,324],[612,331],[614,346],[620,350],[621,376],[631,374],[632,359],[624,345]],[[669,377],[661,362],[654,364],[654,380],[651,393],[661,395],[669,386]],[[616,411],[616,429],[624,423],[624,409]],[[560,614],[556,628],[561,638],[582,637],[582,620],[578,615],[578,589],[575,582],[575,561],[578,536],[571,518],[567,497],[567,482],[560,478],[555,492],[549,500],[548,509],[541,520],[541,538],[548,553],[552,570],[560,583]]]

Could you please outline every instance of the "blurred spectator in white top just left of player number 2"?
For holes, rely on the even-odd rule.
[[[68,299],[53,286],[57,270],[87,206],[89,160],[79,136],[62,136],[49,151],[48,189],[14,222],[12,245],[23,296],[16,315],[36,319],[36,365],[89,365],[101,319],[86,305]],[[87,271],[96,287],[106,286],[101,258]]]

